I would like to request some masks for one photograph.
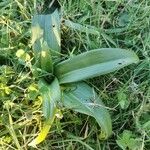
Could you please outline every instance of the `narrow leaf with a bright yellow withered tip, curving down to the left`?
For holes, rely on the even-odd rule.
[[[57,113],[57,102],[60,101],[61,92],[57,78],[48,85],[44,80],[39,81],[40,93],[43,99],[43,113],[46,118],[43,128],[38,136],[29,143],[29,146],[36,147],[45,140]]]

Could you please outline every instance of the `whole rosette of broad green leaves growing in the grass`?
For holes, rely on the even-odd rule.
[[[85,80],[138,62],[134,52],[120,48],[99,48],[61,61],[60,25],[58,9],[32,18],[34,75],[40,76],[38,85],[45,122],[30,146],[36,146],[46,138],[56,113],[61,109],[59,103],[67,109],[94,117],[101,127],[101,137],[107,139],[112,133],[110,115]]]

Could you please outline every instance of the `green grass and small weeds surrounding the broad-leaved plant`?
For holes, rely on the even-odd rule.
[[[0,2],[2,150],[33,149],[28,144],[44,119],[31,62],[24,65],[23,58],[16,56],[16,52],[23,49],[32,60],[31,17],[36,7],[40,11],[43,3],[44,0]],[[128,145],[131,150],[149,150],[150,2],[60,0],[60,3],[65,19],[94,26],[94,31],[99,31],[98,35],[93,35],[62,25],[62,49],[66,57],[98,47],[119,47],[135,51],[140,62],[90,80],[111,113],[113,135],[107,141],[100,141],[100,129],[94,119],[64,109],[63,118],[55,121],[48,137],[37,149],[120,150],[121,146]]]

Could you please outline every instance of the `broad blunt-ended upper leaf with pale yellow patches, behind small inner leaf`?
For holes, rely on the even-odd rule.
[[[52,14],[33,16],[31,44],[36,57],[41,53],[44,42],[48,44],[53,59],[60,56],[60,22],[57,9]]]

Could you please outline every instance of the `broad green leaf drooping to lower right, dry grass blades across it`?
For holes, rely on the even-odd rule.
[[[73,84],[68,89],[63,93],[64,106],[94,117],[101,127],[101,137],[108,138],[112,133],[111,118],[94,89],[84,82]]]

